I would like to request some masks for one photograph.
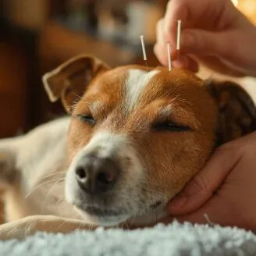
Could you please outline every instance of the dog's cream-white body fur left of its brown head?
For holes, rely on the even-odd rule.
[[[13,166],[6,172],[16,180],[16,183],[9,184],[5,195],[8,221],[41,214],[80,219],[73,206],[65,200],[64,182],[62,186],[57,184],[57,180],[64,179],[67,169],[69,122],[69,117],[57,119],[26,135],[0,140],[0,160],[8,161],[2,153],[9,152]],[[57,172],[62,173],[55,174]],[[4,178],[3,173],[1,175],[1,179]]]

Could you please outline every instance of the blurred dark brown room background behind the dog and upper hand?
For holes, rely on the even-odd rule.
[[[0,0],[0,137],[27,132],[64,114],[44,92],[41,76],[82,53],[111,66],[148,62],[155,25],[167,0]],[[233,0],[256,24],[256,0]]]

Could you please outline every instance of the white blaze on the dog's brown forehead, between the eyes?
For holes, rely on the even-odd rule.
[[[150,72],[141,69],[129,70],[128,79],[126,80],[126,104],[130,110],[136,107],[141,92],[147,87],[152,77],[159,72],[159,70]]]

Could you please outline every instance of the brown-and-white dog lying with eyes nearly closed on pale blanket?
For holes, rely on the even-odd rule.
[[[233,82],[80,55],[43,77],[69,116],[0,140],[0,238],[150,226],[215,148],[256,127]]]

